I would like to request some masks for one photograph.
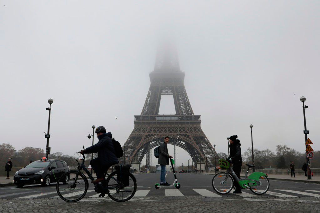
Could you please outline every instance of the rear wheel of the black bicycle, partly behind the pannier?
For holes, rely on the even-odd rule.
[[[129,175],[129,181],[116,181],[117,171],[112,172],[107,178],[108,196],[117,202],[125,202],[130,200],[137,190],[137,181],[134,178],[133,174],[125,173]]]

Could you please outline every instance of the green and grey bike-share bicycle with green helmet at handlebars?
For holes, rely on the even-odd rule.
[[[219,159],[221,169],[226,169],[226,172],[219,172],[212,179],[212,187],[219,194],[227,194],[235,186],[235,181],[241,186],[241,188],[249,188],[254,194],[264,194],[269,189],[268,175],[256,171],[248,176],[249,168],[253,168],[254,165],[245,164],[248,166],[248,170],[245,173],[244,179],[238,179],[236,173],[232,170],[231,158]]]

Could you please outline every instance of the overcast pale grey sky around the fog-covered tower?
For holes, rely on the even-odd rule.
[[[123,145],[158,41],[169,35],[217,152],[227,153],[227,137],[237,134],[244,153],[250,124],[254,148],[304,152],[301,96],[312,148],[320,149],[319,1],[0,2],[0,143],[45,149],[52,98],[52,153],[88,147],[92,125]],[[165,98],[160,113],[173,114]],[[187,165],[187,152],[177,150],[177,163]]]

